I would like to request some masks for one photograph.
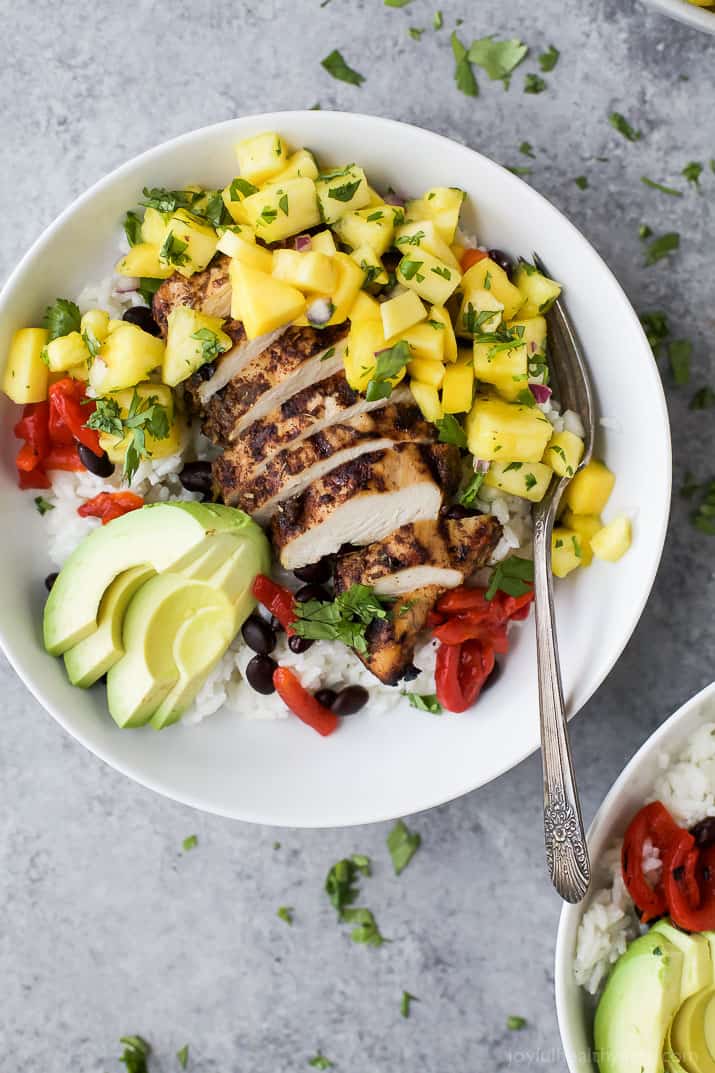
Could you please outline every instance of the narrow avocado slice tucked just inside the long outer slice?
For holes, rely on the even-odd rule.
[[[152,574],[151,567],[132,567],[112,582],[100,603],[97,629],[64,653],[67,676],[73,686],[88,689],[121,658],[125,612],[140,586]]]

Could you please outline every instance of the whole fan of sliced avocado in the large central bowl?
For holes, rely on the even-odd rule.
[[[84,688],[107,676],[119,726],[176,722],[251,613],[268,542],[242,511],[144,506],[94,529],[47,599],[45,647]]]

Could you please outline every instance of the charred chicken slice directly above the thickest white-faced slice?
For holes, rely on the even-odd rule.
[[[331,425],[297,446],[281,451],[258,475],[251,462],[244,464],[240,452],[229,449],[214,462],[214,484],[224,503],[240,506],[265,525],[279,503],[300,496],[338,466],[396,443],[434,443],[435,439],[435,426],[422,417],[418,407],[390,405],[349,423]]]

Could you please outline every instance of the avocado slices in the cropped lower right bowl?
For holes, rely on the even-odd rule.
[[[714,953],[668,920],[630,943],[596,1011],[600,1073],[715,1073]]]

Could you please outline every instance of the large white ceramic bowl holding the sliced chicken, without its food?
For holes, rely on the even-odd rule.
[[[467,231],[514,255],[536,250],[565,284],[600,412],[611,420],[598,444],[618,475],[608,513],[634,516],[633,546],[619,564],[595,563],[557,586],[565,691],[570,710],[578,711],[618,659],[653,585],[670,504],[668,416],[651,349],[608,267],[549,202],[498,164],[415,127],[339,113],[251,116],[186,134],[118,168],[47,229],[0,297],[0,354],[11,334],[37,323],[48,302],[107,273],[111,236],[143,186],[222,186],[235,174],[233,143],[265,129],[311,147],[329,164],[360,161],[383,189],[419,194],[437,183],[463,187]],[[381,720],[369,714],[347,719],[327,739],[297,720],[256,722],[228,714],[161,734],[117,730],[103,691],[71,688],[61,662],[42,650],[43,527],[31,497],[16,489],[15,411],[4,399],[1,405],[0,640],[45,708],[113,767],[207,811],[321,827],[431,808],[482,785],[538,746],[531,624],[517,634],[500,681],[468,715],[438,719],[400,705]]]

